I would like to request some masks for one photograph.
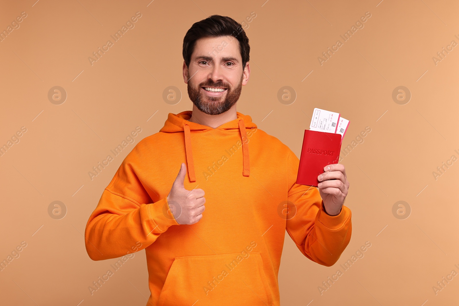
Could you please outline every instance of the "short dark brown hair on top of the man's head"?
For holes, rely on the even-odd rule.
[[[212,15],[206,19],[193,23],[191,28],[186,32],[183,39],[183,59],[185,60],[186,67],[190,66],[191,54],[195,49],[196,40],[204,37],[220,37],[220,36],[234,36],[239,40],[239,50],[242,57],[242,69],[246,67],[246,62],[249,61],[249,39],[246,32],[239,22],[233,18]]]

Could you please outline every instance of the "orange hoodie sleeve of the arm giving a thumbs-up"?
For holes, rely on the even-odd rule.
[[[145,249],[171,225],[179,225],[169,209],[167,197],[152,203],[133,170],[139,164],[138,145],[126,156],[102,192],[86,224],[84,240],[92,260],[116,258]]]

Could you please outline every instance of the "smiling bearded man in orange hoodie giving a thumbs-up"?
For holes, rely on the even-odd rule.
[[[319,188],[296,184],[297,156],[236,111],[249,51],[229,17],[193,24],[183,42],[193,111],[169,113],[135,146],[86,225],[93,260],[146,250],[147,305],[278,306],[285,230],[325,266],[349,243],[344,166],[325,167]]]

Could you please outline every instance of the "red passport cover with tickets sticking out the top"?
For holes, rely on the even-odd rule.
[[[341,134],[304,130],[297,184],[317,187],[317,177],[324,167],[338,163]]]

